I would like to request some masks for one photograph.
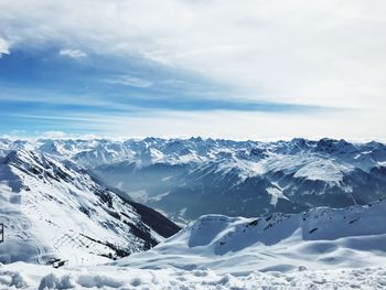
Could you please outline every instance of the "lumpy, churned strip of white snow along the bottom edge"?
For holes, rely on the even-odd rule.
[[[53,269],[23,262],[0,267],[0,289],[384,289],[386,267],[339,270],[254,271],[144,270],[97,266]]]

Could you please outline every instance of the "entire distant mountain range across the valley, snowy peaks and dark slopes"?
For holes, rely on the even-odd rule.
[[[0,140],[87,170],[182,223],[203,214],[256,216],[366,204],[386,194],[386,147],[345,140]]]

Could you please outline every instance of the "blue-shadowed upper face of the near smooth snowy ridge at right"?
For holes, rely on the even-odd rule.
[[[347,208],[314,207],[300,214],[272,213],[257,218],[205,215],[160,245],[184,244],[211,248],[215,255],[250,246],[293,240],[335,240],[342,237],[386,234],[386,200]],[[183,241],[182,241],[183,240]]]

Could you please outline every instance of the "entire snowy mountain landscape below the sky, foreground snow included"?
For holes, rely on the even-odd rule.
[[[0,288],[382,289],[385,196],[374,141],[0,139]]]

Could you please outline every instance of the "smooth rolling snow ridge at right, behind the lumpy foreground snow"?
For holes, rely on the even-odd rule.
[[[206,215],[156,248],[114,265],[233,275],[383,266],[385,221],[386,200],[255,218]]]

